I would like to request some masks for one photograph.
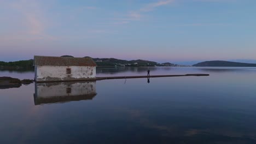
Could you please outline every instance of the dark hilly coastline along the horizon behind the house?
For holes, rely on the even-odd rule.
[[[73,57],[73,56],[62,56]],[[158,63],[142,59],[127,61],[117,58],[92,58],[97,66],[103,67],[191,67],[190,65],[179,65],[170,62]],[[229,61],[205,61],[192,65],[193,67],[256,67],[254,63],[239,63]],[[16,62],[2,62],[0,61],[0,70],[33,70],[33,59]]]

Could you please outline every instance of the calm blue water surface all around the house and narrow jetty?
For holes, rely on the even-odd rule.
[[[147,70],[103,67],[97,76]],[[256,68],[150,68],[151,75],[189,73],[210,76],[0,89],[0,143],[256,143]]]

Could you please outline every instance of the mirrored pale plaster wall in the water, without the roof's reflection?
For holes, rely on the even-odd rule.
[[[96,94],[96,81],[90,82],[55,82],[55,83],[36,83],[35,94],[37,98],[65,97],[71,95]],[[70,88],[70,93],[67,93]]]

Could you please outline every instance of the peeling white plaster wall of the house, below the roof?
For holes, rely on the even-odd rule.
[[[66,69],[71,69],[71,74],[67,74]],[[57,67],[57,66],[37,66],[36,81],[65,81],[79,80],[96,77],[96,67]]]

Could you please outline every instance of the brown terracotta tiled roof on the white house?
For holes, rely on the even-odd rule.
[[[89,57],[48,57],[34,56],[34,65],[50,66],[90,66],[96,67],[96,63]]]

